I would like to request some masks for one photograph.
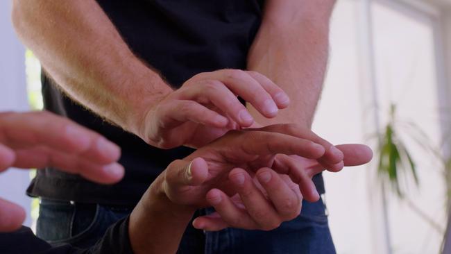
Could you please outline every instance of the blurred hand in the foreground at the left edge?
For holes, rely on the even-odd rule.
[[[121,151],[101,135],[49,112],[0,114],[0,172],[56,167],[96,183],[116,183],[124,176]],[[25,212],[0,198],[0,232],[19,228]]]

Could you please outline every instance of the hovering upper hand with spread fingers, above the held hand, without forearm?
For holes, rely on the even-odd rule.
[[[198,74],[153,105],[139,136],[164,149],[201,147],[228,130],[249,127],[254,119],[237,96],[271,118],[287,108],[289,97],[269,78],[254,71],[223,69]]]

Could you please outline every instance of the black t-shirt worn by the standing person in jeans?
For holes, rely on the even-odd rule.
[[[97,2],[135,55],[157,69],[174,88],[201,72],[246,69],[246,57],[258,31],[263,8],[263,1],[258,0]],[[44,71],[42,92],[46,110],[68,117],[121,146],[119,163],[126,168],[126,175],[116,185],[97,185],[48,168],[38,171],[28,188],[32,196],[135,205],[170,162],[193,151],[186,147],[157,149],[108,124],[62,94]]]

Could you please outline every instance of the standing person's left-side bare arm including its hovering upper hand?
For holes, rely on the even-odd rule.
[[[17,34],[60,88],[153,146],[198,147],[227,130],[251,126],[254,119],[236,96],[263,117],[275,117],[289,104],[283,90],[251,71],[198,74],[174,91],[158,71],[133,55],[94,0],[13,3]],[[167,119],[167,110],[185,114]],[[173,133],[181,138],[167,140]]]

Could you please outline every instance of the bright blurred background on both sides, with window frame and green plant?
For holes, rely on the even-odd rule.
[[[0,1],[0,110],[42,108],[40,63]],[[365,167],[325,173],[337,253],[440,253],[451,198],[451,0],[337,0],[330,64],[314,130],[375,151]],[[28,210],[28,171],[0,195]]]

